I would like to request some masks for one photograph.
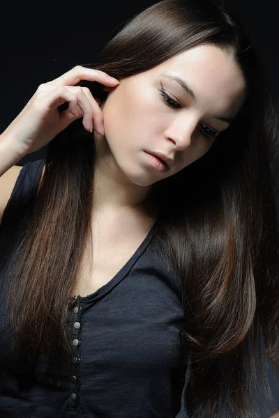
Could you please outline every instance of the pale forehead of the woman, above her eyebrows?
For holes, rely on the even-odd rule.
[[[204,107],[216,105],[215,112],[225,108],[237,111],[243,102],[246,83],[234,58],[215,45],[199,45],[147,71],[151,77],[171,75],[183,79],[193,90],[197,104]],[[176,91],[179,85],[163,77],[167,86]]]

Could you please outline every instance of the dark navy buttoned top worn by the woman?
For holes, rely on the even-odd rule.
[[[176,417],[187,379],[179,344],[183,311],[174,273],[156,240],[157,223],[105,286],[70,298],[70,331],[78,345],[67,373],[56,373],[43,356],[32,371],[22,369],[17,344],[2,325],[5,271],[44,162],[24,165],[0,226],[0,416]]]

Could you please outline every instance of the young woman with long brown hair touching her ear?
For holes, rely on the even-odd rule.
[[[40,85],[0,148],[3,415],[259,417],[278,109],[236,18],[143,10]]]

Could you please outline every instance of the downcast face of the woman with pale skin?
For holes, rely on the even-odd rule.
[[[109,92],[100,105],[105,137],[96,134],[97,150],[106,149],[102,158],[112,171],[122,171],[141,186],[172,176],[202,157],[215,132],[229,127],[229,121],[220,118],[234,118],[246,96],[243,75],[233,59],[214,45],[182,52],[104,89]],[[146,152],[169,157],[169,169],[156,169]]]

